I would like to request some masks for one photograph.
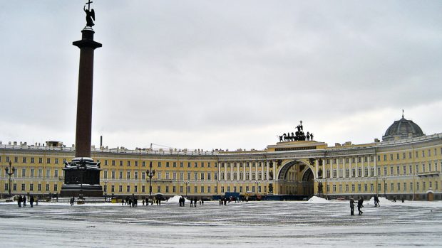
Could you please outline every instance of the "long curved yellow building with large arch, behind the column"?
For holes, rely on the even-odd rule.
[[[63,185],[63,162],[75,149],[59,142],[0,145],[0,193],[48,195]],[[386,195],[406,200],[442,200],[442,134],[423,135],[416,124],[394,122],[383,141],[336,144],[282,141],[264,151],[189,151],[186,149],[92,149],[101,163],[107,195],[187,195],[212,198],[236,192],[273,199],[311,195],[349,198]],[[16,169],[9,176],[9,162]],[[152,166],[155,176],[148,177]]]

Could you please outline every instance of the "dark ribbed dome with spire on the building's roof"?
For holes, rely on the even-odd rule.
[[[422,129],[413,121],[408,121],[402,114],[402,119],[391,124],[389,129],[382,136],[382,141],[396,141],[423,136]]]

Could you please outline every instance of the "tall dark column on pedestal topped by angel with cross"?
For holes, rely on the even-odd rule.
[[[76,153],[71,163],[65,162],[64,184],[61,196],[102,196],[100,185],[100,163],[91,158],[91,124],[92,124],[92,92],[93,92],[93,52],[101,48],[101,43],[93,41],[92,29],[95,11],[91,10],[88,0],[86,27],[81,31],[81,41],[72,44],[80,48],[80,69],[78,72],[78,99],[76,123]]]

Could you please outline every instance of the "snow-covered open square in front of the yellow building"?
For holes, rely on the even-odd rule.
[[[0,247],[441,247],[442,202],[380,201],[0,203]]]

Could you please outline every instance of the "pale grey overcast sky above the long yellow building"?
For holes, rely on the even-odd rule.
[[[0,1],[0,141],[75,144],[83,1]],[[442,1],[93,0],[92,144],[329,146],[442,132]],[[155,146],[154,147],[160,147]]]

